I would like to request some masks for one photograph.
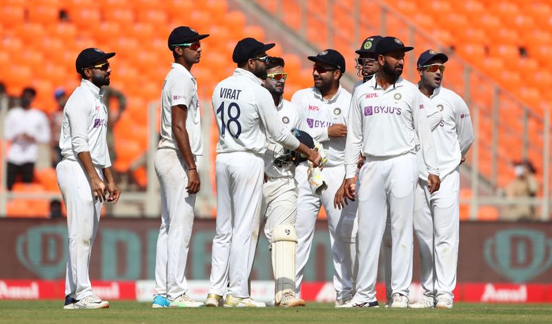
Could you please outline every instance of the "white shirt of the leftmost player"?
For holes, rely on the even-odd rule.
[[[83,79],[67,100],[59,136],[64,159],[80,161],[77,154],[90,152],[92,164],[96,167],[111,166],[106,141],[108,109],[101,101],[103,92],[94,83]]]

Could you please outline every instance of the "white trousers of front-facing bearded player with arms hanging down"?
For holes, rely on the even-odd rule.
[[[359,270],[355,299],[376,301],[380,247],[386,226],[387,208],[391,214],[393,255],[391,288],[408,296],[412,281],[414,192],[417,183],[415,154],[391,158],[367,157],[360,170],[357,190]]]

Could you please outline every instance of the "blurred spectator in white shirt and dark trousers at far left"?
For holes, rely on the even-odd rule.
[[[34,163],[38,157],[38,143],[50,141],[50,128],[46,114],[31,108],[37,92],[33,88],[23,89],[21,107],[8,110],[4,120],[4,136],[10,141],[8,150],[8,190],[21,176],[24,183],[32,181]]]

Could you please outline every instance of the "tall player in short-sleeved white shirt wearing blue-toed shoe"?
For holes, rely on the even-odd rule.
[[[180,26],[168,37],[175,61],[161,91],[161,141],[155,153],[161,227],[155,258],[154,308],[204,306],[186,295],[186,261],[200,186],[197,156],[203,152],[197,83],[190,71],[201,57],[200,40],[208,36]]]

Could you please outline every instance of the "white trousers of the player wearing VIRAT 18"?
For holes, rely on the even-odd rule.
[[[213,239],[210,294],[249,297],[248,279],[259,239],[264,181],[262,156],[217,154],[217,230]]]

